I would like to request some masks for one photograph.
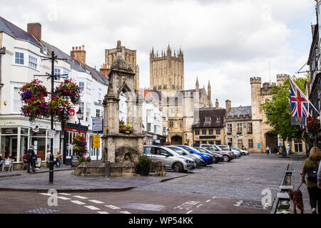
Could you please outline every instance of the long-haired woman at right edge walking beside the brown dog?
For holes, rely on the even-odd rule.
[[[321,189],[317,187],[317,170],[320,165],[321,152],[318,147],[312,147],[309,157],[302,167],[302,183],[307,185],[307,192],[310,197],[312,214],[321,214]],[[305,180],[307,175],[307,180]]]

